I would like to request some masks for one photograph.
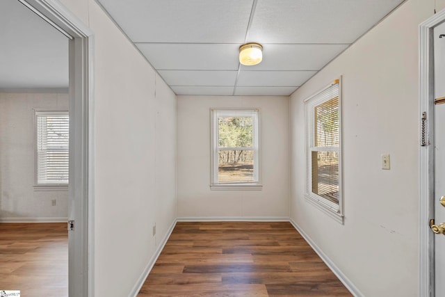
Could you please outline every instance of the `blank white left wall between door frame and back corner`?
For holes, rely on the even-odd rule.
[[[95,296],[129,296],[176,218],[176,95],[95,1],[62,3],[95,36]]]

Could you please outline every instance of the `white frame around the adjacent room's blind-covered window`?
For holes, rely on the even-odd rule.
[[[38,116],[41,115],[67,115],[70,116],[67,109],[33,109],[33,134],[34,134],[34,191],[67,191],[70,184],[69,179],[67,183],[47,183],[42,184],[38,182]],[[68,146],[68,153],[70,147]],[[68,160],[69,161],[69,160]]]

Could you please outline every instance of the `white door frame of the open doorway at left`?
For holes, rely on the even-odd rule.
[[[94,105],[93,36],[58,0],[19,0],[70,38],[70,202],[68,290],[70,297],[94,296]]]

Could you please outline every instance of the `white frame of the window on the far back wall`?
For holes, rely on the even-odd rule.
[[[261,191],[261,125],[259,109],[211,109],[210,131],[211,131],[211,172],[210,172],[210,188],[211,190],[253,190]],[[252,129],[252,147],[254,150],[254,177],[255,182],[218,182],[218,116],[243,116],[247,113],[254,113],[254,125]]]

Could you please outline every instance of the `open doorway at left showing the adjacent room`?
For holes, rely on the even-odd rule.
[[[68,296],[69,39],[17,0],[0,27],[0,289]]]

